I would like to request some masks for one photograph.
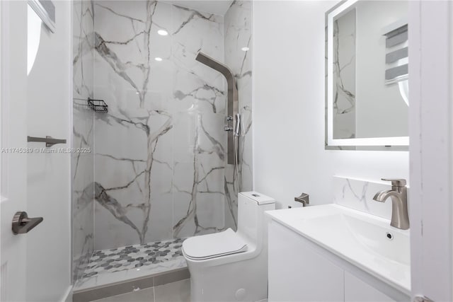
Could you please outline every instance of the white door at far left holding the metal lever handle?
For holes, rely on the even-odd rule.
[[[27,148],[26,1],[0,1],[0,66],[0,301],[25,301],[27,237],[33,231],[13,235],[11,221],[16,211],[27,211],[27,161],[19,153]]]

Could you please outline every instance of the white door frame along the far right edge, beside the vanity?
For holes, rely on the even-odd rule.
[[[453,301],[453,2],[409,8],[412,296]]]

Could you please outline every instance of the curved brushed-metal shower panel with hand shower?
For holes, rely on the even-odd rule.
[[[236,170],[239,169],[237,163],[239,163],[239,136],[241,129],[241,118],[239,116],[239,96],[238,89],[236,87],[236,79],[234,79],[234,74],[226,65],[218,62],[212,57],[198,52],[197,57],[195,58],[198,62],[205,64],[212,69],[219,71],[224,75],[226,83],[228,85],[227,93],[227,117],[225,119],[224,130],[228,132],[228,144],[227,144],[227,158],[228,163],[236,165]],[[235,117],[235,119],[233,119]],[[232,125],[230,123],[233,123]],[[236,137],[236,142],[234,141]]]

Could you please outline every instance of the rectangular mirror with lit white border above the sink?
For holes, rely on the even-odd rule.
[[[326,149],[407,150],[408,105],[408,1],[328,11]]]

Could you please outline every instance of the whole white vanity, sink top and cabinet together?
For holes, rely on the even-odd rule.
[[[269,301],[410,301],[409,231],[326,204],[268,211]]]

